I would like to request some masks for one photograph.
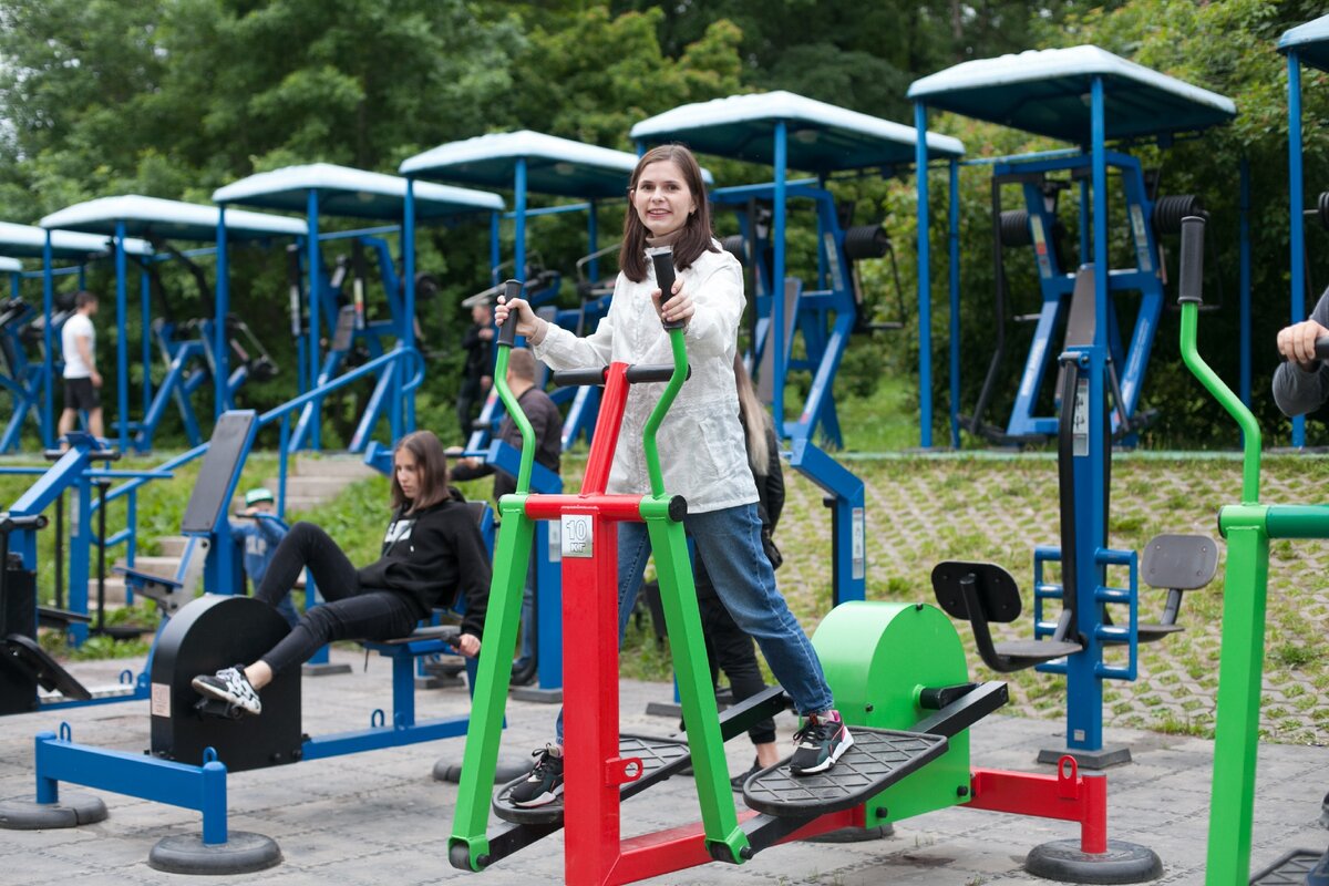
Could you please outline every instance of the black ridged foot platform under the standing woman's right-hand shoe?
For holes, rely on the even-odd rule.
[[[815,776],[793,776],[788,760],[743,785],[743,800],[776,817],[820,816],[849,809],[881,793],[946,751],[945,736],[855,728],[853,747]]]

